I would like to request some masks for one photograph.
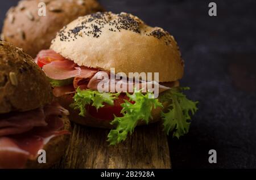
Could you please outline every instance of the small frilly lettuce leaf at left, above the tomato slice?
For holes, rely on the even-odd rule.
[[[74,102],[71,104],[71,108],[78,109],[79,115],[85,116],[86,105],[95,106],[97,109],[102,108],[104,103],[114,105],[114,100],[119,96],[119,93],[100,93],[95,90],[76,89],[76,94],[73,96]]]

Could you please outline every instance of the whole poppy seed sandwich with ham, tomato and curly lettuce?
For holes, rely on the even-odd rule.
[[[182,92],[189,88],[179,86],[184,61],[174,37],[125,12],[74,20],[35,61],[71,121],[111,128],[110,144],[160,120],[166,134],[179,138],[197,110]]]

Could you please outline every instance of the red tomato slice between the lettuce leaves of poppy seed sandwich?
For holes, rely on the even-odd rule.
[[[113,120],[114,115],[117,117],[122,117],[121,110],[123,109],[121,104],[125,102],[125,100],[129,100],[125,94],[119,95],[119,97],[114,100],[114,105],[105,104],[104,107],[97,109],[94,106],[88,106],[88,113],[95,118],[99,118],[102,120]]]

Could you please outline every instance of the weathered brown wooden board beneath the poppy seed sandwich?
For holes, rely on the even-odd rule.
[[[125,142],[109,146],[109,130],[73,124],[71,142],[56,168],[171,168],[167,136],[159,123],[137,127]]]

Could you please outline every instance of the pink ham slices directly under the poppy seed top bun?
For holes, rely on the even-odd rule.
[[[53,50],[43,50],[38,54],[38,58],[51,58],[55,59],[51,63],[43,66],[43,71],[51,79],[64,80],[68,78],[75,78],[73,81],[73,87],[76,89],[80,87],[81,89],[94,89],[98,90],[99,85],[101,90],[105,92],[133,92],[134,87],[137,89],[143,89],[142,92],[154,91],[154,87],[158,86],[159,93],[170,89],[165,85],[161,85],[158,82],[151,81],[135,81],[134,80],[113,80],[110,81],[110,72],[108,71],[98,71],[95,68],[89,68],[85,66],[78,66],[76,63],[69,59],[65,59],[60,54],[57,54]],[[57,61],[56,61],[57,60]],[[108,76],[108,78],[101,79],[102,76]],[[100,78],[100,79],[99,79]],[[115,87],[119,87],[116,89]],[[53,89],[53,94],[56,97],[63,96],[68,92],[67,87],[59,87]]]

